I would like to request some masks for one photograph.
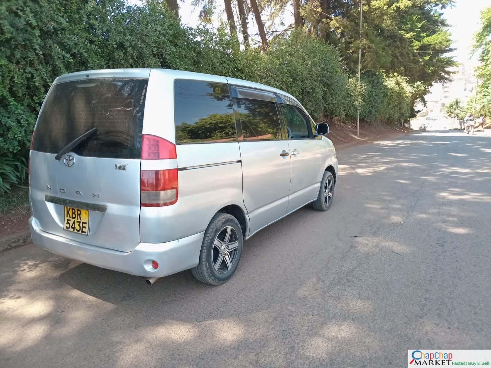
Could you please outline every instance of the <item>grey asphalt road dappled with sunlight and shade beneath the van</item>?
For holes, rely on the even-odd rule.
[[[406,367],[491,348],[491,136],[338,152],[331,210],[245,243],[235,276],[142,278],[33,245],[0,255],[0,366]]]

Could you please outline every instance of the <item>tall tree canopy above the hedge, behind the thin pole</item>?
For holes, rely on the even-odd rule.
[[[289,2],[270,0],[276,12]],[[359,0],[302,0],[301,24],[309,34],[338,49],[351,74],[357,74],[361,49],[362,71],[397,73],[410,83],[421,82],[425,87],[421,92],[426,93],[434,82],[448,81],[449,68],[456,65],[447,55],[453,49],[441,13],[453,2],[364,1],[360,33]]]

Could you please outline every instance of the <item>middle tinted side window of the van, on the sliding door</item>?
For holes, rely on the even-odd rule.
[[[234,98],[244,140],[282,139],[274,102]]]

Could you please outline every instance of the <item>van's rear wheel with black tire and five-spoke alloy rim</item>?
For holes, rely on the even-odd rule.
[[[199,263],[191,268],[193,276],[205,284],[224,283],[239,265],[243,243],[239,221],[228,213],[218,212],[205,231]]]

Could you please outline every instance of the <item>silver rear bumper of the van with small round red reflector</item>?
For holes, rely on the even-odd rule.
[[[42,231],[29,219],[32,242],[60,256],[102,268],[145,277],[163,277],[198,264],[204,232],[166,243],[139,243],[131,252],[95,247]],[[154,270],[152,261],[159,263]]]

